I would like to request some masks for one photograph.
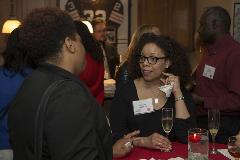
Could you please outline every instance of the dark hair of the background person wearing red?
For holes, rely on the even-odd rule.
[[[77,33],[82,39],[83,46],[88,54],[91,54],[97,62],[103,63],[103,52],[98,42],[93,38],[87,26],[81,21],[74,21]]]

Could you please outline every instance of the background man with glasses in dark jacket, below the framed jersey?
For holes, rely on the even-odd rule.
[[[95,18],[91,24],[93,27],[93,36],[99,42],[104,55],[104,78],[114,79],[116,66],[119,65],[119,54],[116,47],[106,42],[106,22],[100,18]]]

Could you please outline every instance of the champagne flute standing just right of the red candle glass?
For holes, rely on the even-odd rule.
[[[208,110],[208,129],[212,136],[213,147],[210,151],[210,154],[217,154],[217,150],[215,148],[215,137],[218,133],[220,125],[220,111],[218,109],[209,109]]]

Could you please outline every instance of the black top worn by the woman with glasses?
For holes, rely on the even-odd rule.
[[[129,81],[120,85],[115,92],[110,113],[110,124],[114,141],[134,130],[140,130],[139,136],[143,137],[149,136],[154,132],[165,135],[161,124],[162,109],[134,116],[132,101],[139,100],[135,84],[133,81]],[[187,130],[196,126],[195,105],[190,93],[183,91],[183,95],[190,117],[186,120],[174,118],[169,139],[172,141],[177,139],[182,143],[187,143]],[[173,108],[175,117],[174,105],[174,96],[171,95],[163,108]]]

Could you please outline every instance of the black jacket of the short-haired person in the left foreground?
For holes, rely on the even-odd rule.
[[[33,160],[35,116],[46,88],[70,79],[50,96],[44,121],[43,159],[112,159],[111,133],[105,114],[78,77],[43,64],[23,83],[9,110],[14,160]],[[45,145],[46,144],[46,145]]]

